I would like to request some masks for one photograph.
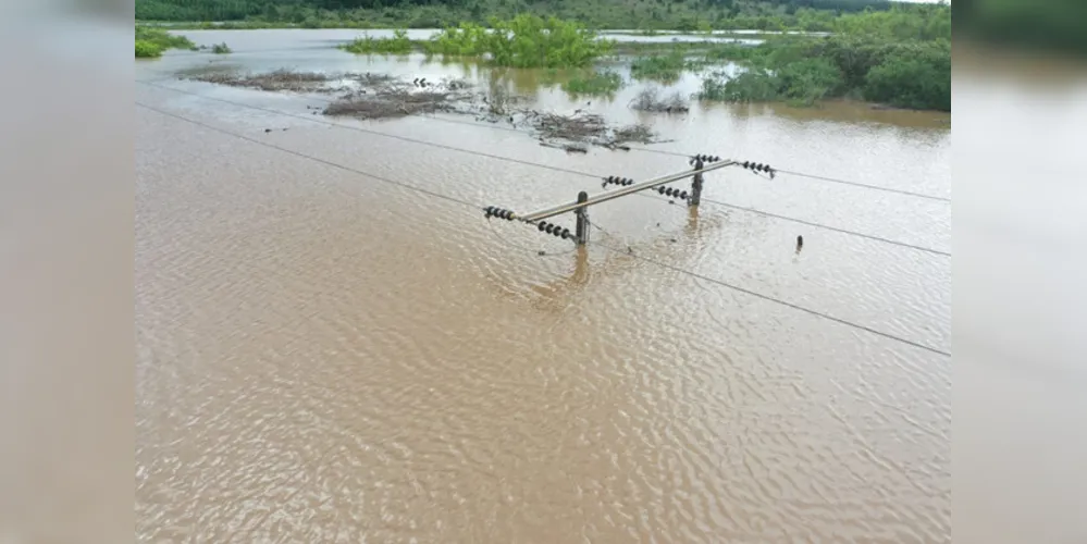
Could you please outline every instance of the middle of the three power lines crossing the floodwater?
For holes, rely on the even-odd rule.
[[[510,157],[503,157],[503,156],[486,153],[486,152],[482,152],[482,151],[474,151],[474,150],[471,150],[471,149],[464,149],[464,148],[458,148],[458,147],[454,147],[454,146],[447,146],[445,144],[435,144],[435,143],[432,143],[432,141],[416,139],[416,138],[409,138],[409,137],[406,137],[406,136],[399,136],[399,135],[395,135],[395,134],[387,134],[387,133],[383,133],[383,132],[379,132],[379,131],[371,131],[371,129],[362,128],[362,127],[358,127],[358,126],[351,126],[351,125],[345,125],[345,124],[341,124],[341,123],[334,123],[334,122],[325,121],[325,120],[322,120],[322,119],[313,119],[312,115],[299,115],[299,114],[295,114],[295,113],[291,113],[291,112],[285,112],[285,111],[282,111],[282,110],[273,110],[273,109],[270,109],[270,108],[262,108],[262,107],[259,107],[259,106],[252,106],[252,104],[247,104],[247,103],[244,103],[244,102],[237,102],[237,101],[234,101],[234,100],[226,100],[226,99],[223,99],[223,98],[209,97],[209,96],[206,96],[206,95],[201,95],[199,92],[193,92],[193,91],[189,91],[189,90],[177,89],[177,88],[169,87],[169,86],[165,86],[165,85],[158,85],[158,84],[149,83],[149,82],[137,82],[137,83],[143,83],[144,85],[148,85],[148,86],[151,86],[151,87],[158,87],[158,88],[165,89],[165,90],[172,90],[172,91],[180,92],[180,94],[183,94],[183,95],[190,95],[190,96],[194,96],[194,97],[197,97],[197,98],[202,98],[202,99],[207,99],[207,100],[213,100],[213,101],[217,101],[217,102],[228,103],[228,104],[232,104],[232,106],[237,106],[239,108],[247,108],[247,109],[251,109],[251,110],[263,111],[263,112],[268,112],[268,113],[274,113],[274,114],[277,114],[277,115],[284,115],[284,116],[288,116],[288,118],[295,118],[295,119],[299,119],[299,120],[304,120],[304,121],[308,121],[308,122],[311,122],[311,123],[317,123],[317,124],[321,124],[321,125],[325,125],[325,126],[333,126],[333,127],[346,128],[346,129],[349,129],[349,131],[356,131],[356,132],[360,132],[360,133],[365,133],[365,134],[371,134],[371,135],[374,135],[374,136],[382,136],[382,137],[386,137],[386,138],[394,138],[394,139],[398,139],[398,140],[402,140],[402,141],[408,141],[408,143],[411,143],[411,144],[418,144],[418,145],[423,145],[423,146],[431,146],[431,147],[436,147],[436,148],[441,148],[441,149],[446,149],[446,150],[449,150],[449,151],[457,151],[457,152],[473,154],[473,156],[478,156],[478,157],[484,157],[484,158],[489,158],[489,159],[495,159],[495,160],[501,160],[501,161],[506,161],[506,162],[512,162],[512,163],[522,164],[522,165],[527,165],[527,166],[534,166],[534,168],[540,168],[540,169],[545,169],[545,170],[552,170],[552,171],[567,173],[567,174],[580,175],[580,176],[583,176],[583,177],[592,177],[594,180],[601,180],[602,178],[602,176],[600,176],[597,174],[590,174],[588,172],[581,172],[581,171],[565,169],[565,168],[560,168],[560,166],[552,166],[549,164],[542,164],[542,163],[539,163],[539,162],[524,161],[524,160],[515,159],[515,158],[510,158]],[[430,118],[430,119],[443,120],[442,118]],[[487,125],[483,125],[483,124],[479,124],[479,123],[468,123],[468,122],[453,121],[453,120],[443,120],[443,121],[452,121],[452,122],[461,123],[461,124],[471,124],[473,126],[489,127]],[[210,126],[210,125],[205,125],[205,126]],[[494,127],[494,128],[521,132],[521,131],[517,131],[516,128],[505,128],[505,127]],[[259,141],[259,140],[255,140],[255,139],[251,139],[251,138],[246,138],[246,139],[248,139],[250,141]],[[261,143],[261,144],[263,144],[263,143]],[[643,149],[643,148],[631,148],[631,149]],[[677,153],[677,152],[674,152],[674,151],[664,151],[664,150],[659,150],[659,149],[644,149],[644,150],[651,151],[651,152],[663,153],[663,154],[675,156],[675,157],[683,157],[685,159],[689,159],[688,156],[682,154],[682,153]],[[365,174],[365,175],[369,175],[369,174]],[[652,198],[652,199],[655,199],[655,200],[667,201],[666,199],[660,198],[660,197],[656,197],[654,195],[645,195],[645,194],[641,194],[641,193],[639,193],[638,195],[641,196],[641,197],[644,197],[644,198]],[[940,251],[938,249],[931,249],[931,248],[927,248],[927,247],[923,247],[923,246],[916,246],[916,245],[907,244],[907,243],[904,243],[904,242],[897,242],[897,240],[892,240],[892,239],[889,239],[889,238],[884,238],[884,237],[880,237],[880,236],[874,236],[874,235],[864,234],[864,233],[854,232],[854,231],[849,231],[849,230],[840,228],[840,227],[836,227],[836,226],[824,225],[824,224],[820,224],[820,223],[814,223],[814,222],[805,221],[805,220],[802,220],[802,219],[789,218],[789,217],[786,217],[786,215],[779,215],[779,214],[775,214],[775,213],[770,213],[770,212],[765,212],[765,211],[762,211],[762,210],[756,210],[754,208],[745,208],[745,207],[742,207],[742,206],[730,205],[728,202],[721,202],[721,201],[718,201],[718,200],[712,200],[712,199],[707,199],[707,198],[703,198],[702,201],[703,202],[713,203],[713,205],[716,205],[716,206],[721,206],[721,207],[734,209],[734,210],[741,210],[741,211],[746,211],[746,212],[750,212],[750,213],[755,213],[755,214],[758,214],[758,215],[764,215],[764,217],[768,217],[768,218],[773,218],[773,219],[778,219],[778,220],[781,220],[781,221],[789,221],[789,222],[793,222],[793,223],[798,223],[798,224],[803,224],[803,225],[807,225],[807,226],[813,226],[813,227],[816,227],[816,228],[824,228],[824,230],[827,230],[827,231],[837,232],[837,233],[845,234],[845,235],[850,235],[850,236],[857,236],[857,237],[866,238],[866,239],[870,239],[870,240],[882,242],[882,243],[887,243],[887,244],[891,244],[891,245],[895,245],[895,246],[900,246],[900,247],[905,247],[905,248],[915,249],[915,250],[919,250],[919,251],[924,251],[924,252],[928,252],[928,254],[932,254],[932,255],[938,255],[938,256],[941,256],[941,257],[951,257],[950,252]]]

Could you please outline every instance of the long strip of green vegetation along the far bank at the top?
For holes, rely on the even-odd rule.
[[[839,13],[890,7],[887,0],[136,0],[136,20],[230,23],[222,28],[444,28],[534,14],[647,32],[829,32]]]

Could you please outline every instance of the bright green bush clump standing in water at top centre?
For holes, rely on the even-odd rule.
[[[503,21],[492,17],[490,29],[461,23],[434,36],[425,50],[432,54],[483,57],[498,66],[581,67],[612,50],[612,42],[573,21],[521,14]]]

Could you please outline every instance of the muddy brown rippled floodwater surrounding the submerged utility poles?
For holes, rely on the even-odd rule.
[[[950,351],[950,257],[817,226],[949,254],[949,201],[726,169],[696,211],[594,207],[573,251],[472,206],[530,211],[602,190],[566,171],[687,161],[180,77],[498,82],[674,140],[652,149],[942,198],[949,115],[634,112],[637,82],[585,99],[540,73],[354,57],[342,30],[186,34],[236,52],[136,63],[137,540],[951,541],[950,357],[677,270]]]

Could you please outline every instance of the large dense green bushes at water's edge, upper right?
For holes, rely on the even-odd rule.
[[[748,70],[716,72],[700,97],[724,101],[813,104],[850,97],[901,108],[951,110],[951,12],[947,5],[897,7],[845,15],[827,38],[780,38],[757,48],[720,47],[707,57],[739,57]]]

